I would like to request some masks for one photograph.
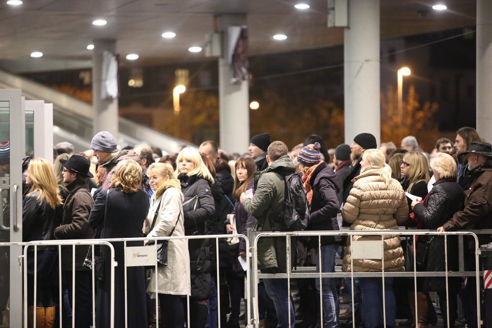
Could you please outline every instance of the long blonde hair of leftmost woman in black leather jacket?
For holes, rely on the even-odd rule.
[[[29,194],[39,192],[38,199],[45,201],[53,209],[62,204],[55,174],[46,159],[41,157],[31,159],[27,171],[33,182]]]

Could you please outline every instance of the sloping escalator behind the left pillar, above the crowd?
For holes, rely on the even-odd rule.
[[[68,141],[76,151],[91,148],[93,131],[92,106],[27,78],[0,70],[0,89],[22,89],[26,100],[44,100],[53,104],[53,144]],[[185,140],[119,117],[118,144],[121,147],[146,143],[175,153]]]

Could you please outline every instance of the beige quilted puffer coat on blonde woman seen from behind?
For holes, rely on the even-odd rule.
[[[398,223],[408,217],[408,203],[401,185],[391,179],[385,185],[381,167],[369,166],[353,179],[350,191],[342,210],[345,221],[352,223],[351,230],[397,230]],[[353,240],[381,240],[380,236],[353,236]],[[347,238],[347,248],[342,271],[351,271],[351,245]],[[384,236],[384,271],[404,271],[403,250],[397,235]],[[381,260],[354,259],[354,272],[380,272]]]

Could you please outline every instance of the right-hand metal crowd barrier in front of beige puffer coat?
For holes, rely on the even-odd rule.
[[[414,278],[414,292],[417,293],[417,277],[445,277],[446,279],[446,305],[447,305],[447,322],[449,322],[449,290],[447,288],[448,286],[448,278],[449,277],[464,277],[464,276],[474,276],[476,280],[476,306],[477,306],[477,324],[480,326],[480,291],[479,291],[479,276],[480,276],[480,269],[479,269],[479,261],[478,261],[478,256],[480,254],[479,250],[479,244],[478,244],[478,239],[476,234],[492,234],[492,230],[471,230],[471,231],[456,231],[456,232],[437,232],[434,230],[372,230],[372,231],[361,231],[361,230],[340,230],[340,231],[299,231],[299,232],[252,232],[249,231],[249,238],[254,239],[253,242],[253,247],[250,249],[250,253],[252,256],[252,265],[253,265],[253,277],[252,277],[252,284],[250,285],[251,288],[251,299],[252,299],[252,304],[250,306],[251,311],[254,313],[254,318],[252,318],[250,324],[251,326],[258,327],[259,324],[259,310],[258,310],[258,283],[259,279],[287,279],[287,286],[288,286],[288,294],[285,295],[286,298],[289,299],[289,303],[292,302],[292,299],[290,297],[290,279],[291,278],[319,278],[319,290],[322,291],[322,279],[321,278],[346,278],[348,275],[351,277],[351,284],[352,284],[352,299],[354,299],[354,278],[359,278],[359,277],[381,277],[383,280],[385,277],[413,277]],[[378,235],[381,237],[381,242],[380,244],[380,256],[384,257],[384,236],[385,235],[399,235],[400,238],[401,236],[413,236],[413,244],[415,245],[415,236],[417,235],[441,235],[444,236],[445,244],[444,244],[444,251],[445,251],[445,265],[446,265],[446,270],[443,272],[424,272],[424,271],[417,271],[417,264],[416,264],[416,252],[414,250],[414,271],[413,272],[385,272],[384,267],[381,267],[381,272],[353,272],[353,260],[354,257],[351,257],[351,272],[341,272],[340,268],[336,267],[334,273],[323,273],[321,270],[316,270],[315,267],[311,267],[313,269],[308,269],[308,270],[303,270],[305,268],[297,268],[293,269],[293,265],[291,263],[291,249],[292,249],[292,243],[291,243],[291,237],[317,237],[318,238],[318,263],[321,263],[321,243],[320,243],[320,238],[321,236],[334,236],[334,235],[339,235],[339,236],[347,236],[352,239],[352,236],[357,235]],[[464,264],[463,264],[463,236],[468,235],[471,238],[474,239],[474,251],[475,251],[475,270],[474,271],[464,271]],[[459,271],[457,272],[452,272],[448,271],[448,263],[447,263],[447,237],[448,236],[458,236],[459,241]],[[281,238],[284,237],[286,239],[286,259],[287,259],[287,273],[277,273],[277,274],[262,274],[258,270],[258,240],[261,238],[266,238],[266,237],[275,237],[275,238]],[[356,241],[357,242],[357,241]],[[359,241],[361,242],[361,241]],[[363,242],[363,241],[362,241]],[[362,243],[361,242],[361,243]],[[352,242],[353,245],[353,242]],[[344,245],[345,246],[345,245]],[[373,248],[374,245],[369,246],[369,248]],[[374,250],[371,250],[374,251]],[[364,253],[364,252],[362,252]],[[374,252],[372,252],[374,253]],[[377,253],[377,252],[376,252]],[[363,259],[363,257],[362,257]],[[368,258],[372,259],[372,258]],[[381,261],[383,263],[383,261]],[[321,268],[321,266],[319,266]],[[300,269],[300,270],[299,270]],[[384,296],[384,283],[383,285],[383,320],[384,320],[384,326],[386,326],[386,304],[385,304],[385,296]],[[334,295],[335,296],[335,295]],[[353,326],[355,327],[355,305],[354,302],[352,302],[352,322]],[[320,309],[320,318],[321,318],[321,326],[323,326],[323,316],[322,316],[322,292],[319,293],[319,309]],[[418,317],[418,309],[417,309],[417,297],[415,297],[415,322],[417,322],[417,317]],[[290,318],[290,305],[288,309],[288,316],[289,316],[289,326],[291,324],[291,318]]]

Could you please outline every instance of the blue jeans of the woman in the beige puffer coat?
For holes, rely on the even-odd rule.
[[[362,324],[374,328],[383,324],[383,284],[380,277],[359,278],[362,292]],[[395,326],[396,300],[393,293],[393,278],[384,278],[386,303],[386,326]]]

